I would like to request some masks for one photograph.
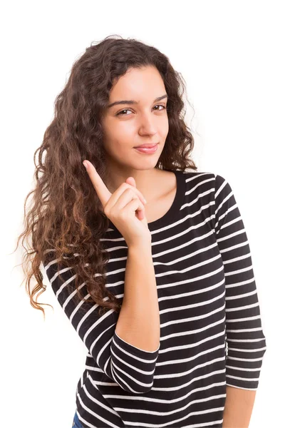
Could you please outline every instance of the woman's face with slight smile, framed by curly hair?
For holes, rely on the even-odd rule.
[[[112,106],[117,101],[123,103]],[[109,165],[130,171],[154,168],[168,133],[167,93],[157,68],[129,69],[110,91],[109,105],[103,116],[103,144]],[[153,143],[158,143],[155,153],[135,149]]]

